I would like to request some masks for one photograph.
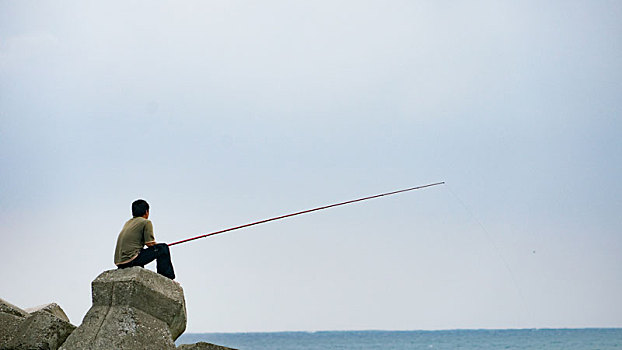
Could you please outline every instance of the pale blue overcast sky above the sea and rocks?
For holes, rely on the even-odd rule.
[[[0,0],[0,298],[446,181],[172,247],[187,331],[622,327],[621,82],[619,1]]]

